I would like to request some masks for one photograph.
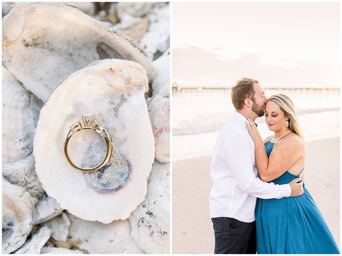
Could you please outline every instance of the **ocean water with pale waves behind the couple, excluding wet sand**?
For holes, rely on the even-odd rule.
[[[298,116],[339,112],[339,89],[318,91],[265,89],[266,97],[278,93],[290,97]],[[187,90],[186,92],[173,90],[172,110],[173,136],[179,136],[220,130],[233,114],[234,107],[230,100],[230,90]],[[257,123],[263,122],[265,122],[263,117],[257,119]]]

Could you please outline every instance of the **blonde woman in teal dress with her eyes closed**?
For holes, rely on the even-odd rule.
[[[286,184],[304,179],[305,144],[292,101],[285,95],[268,99],[266,123],[274,136],[264,142],[252,120],[246,128],[255,143],[260,179]],[[311,195],[260,199],[255,206],[258,253],[339,253],[332,234]]]

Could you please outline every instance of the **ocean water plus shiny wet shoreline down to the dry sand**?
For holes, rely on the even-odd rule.
[[[293,101],[305,141],[338,137],[339,89],[264,89],[266,97],[285,94]],[[173,159],[211,154],[219,130],[232,116],[230,90],[173,90]],[[262,138],[272,135],[265,118],[255,120]]]

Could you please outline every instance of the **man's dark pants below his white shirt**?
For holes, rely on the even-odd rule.
[[[211,218],[215,234],[215,254],[255,254],[255,221],[242,222],[228,217]]]

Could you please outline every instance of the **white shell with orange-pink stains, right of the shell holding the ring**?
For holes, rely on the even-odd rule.
[[[155,139],[155,159],[170,161],[170,86],[165,86],[147,101]]]

